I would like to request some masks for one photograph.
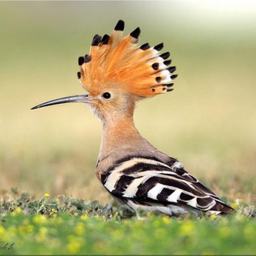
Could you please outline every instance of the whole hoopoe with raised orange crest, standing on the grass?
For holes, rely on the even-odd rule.
[[[143,138],[133,122],[136,103],[173,90],[175,66],[163,43],[137,46],[140,29],[123,38],[124,22],[103,37],[95,35],[89,55],[78,58],[79,82],[88,94],[64,97],[32,109],[61,103],[89,104],[102,120],[96,176],[111,196],[131,211],[167,215],[231,213],[233,208],[188,173],[183,164]]]

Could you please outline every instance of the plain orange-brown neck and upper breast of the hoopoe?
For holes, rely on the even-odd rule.
[[[102,142],[96,165],[96,175],[108,170],[114,161],[126,157],[152,157],[168,162],[170,157],[161,153],[143,138],[133,122],[133,109],[112,114],[103,120]]]

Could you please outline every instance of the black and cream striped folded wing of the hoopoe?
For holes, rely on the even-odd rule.
[[[231,212],[210,189],[176,161],[132,157],[119,161],[102,176],[105,188],[116,198],[136,204],[180,205],[200,211]]]

